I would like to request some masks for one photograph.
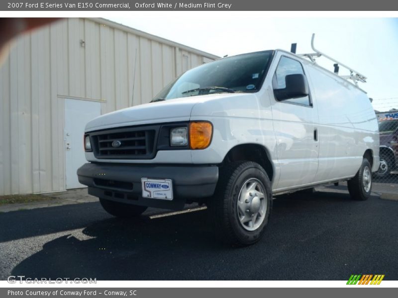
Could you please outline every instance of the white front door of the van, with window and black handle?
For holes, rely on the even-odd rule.
[[[286,89],[286,75],[303,74],[305,77],[305,71],[302,61],[287,53],[278,53],[275,62],[270,69],[270,97],[280,165],[280,178],[275,189],[282,191],[315,181],[318,168],[318,115],[309,87],[306,96],[284,100],[276,98],[277,92],[274,90]]]

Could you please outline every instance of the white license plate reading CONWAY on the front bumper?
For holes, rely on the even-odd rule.
[[[142,197],[150,199],[173,200],[171,179],[141,178]]]

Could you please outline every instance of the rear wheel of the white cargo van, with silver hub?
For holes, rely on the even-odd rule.
[[[372,192],[372,170],[369,160],[364,158],[357,174],[348,180],[348,192],[353,200],[365,201]]]

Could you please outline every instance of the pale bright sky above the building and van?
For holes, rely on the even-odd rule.
[[[379,111],[398,109],[398,18],[270,18],[261,11],[140,12],[129,18],[108,18],[217,56],[261,50],[312,53],[317,50],[367,76],[359,87]],[[333,62],[319,58],[333,70]],[[340,74],[348,74],[340,68]]]

